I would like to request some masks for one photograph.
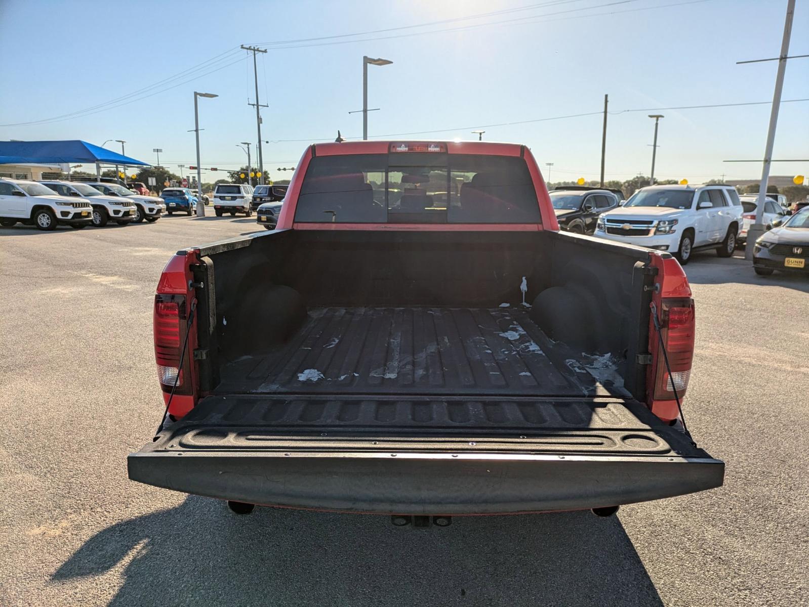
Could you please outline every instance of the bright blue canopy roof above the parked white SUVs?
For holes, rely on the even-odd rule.
[[[79,141],[0,141],[0,164],[60,164],[62,162],[104,162],[149,167],[112,150]]]

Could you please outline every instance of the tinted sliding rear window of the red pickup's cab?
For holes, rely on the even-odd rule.
[[[540,223],[523,158],[357,154],[312,158],[295,221]]]

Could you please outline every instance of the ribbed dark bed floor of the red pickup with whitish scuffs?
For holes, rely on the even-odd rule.
[[[522,306],[325,307],[222,365],[215,394],[628,396],[619,365],[553,342]]]

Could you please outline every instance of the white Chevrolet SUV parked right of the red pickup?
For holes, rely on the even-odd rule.
[[[594,235],[668,251],[685,264],[700,249],[716,249],[720,257],[733,255],[742,213],[733,186],[656,185],[600,215]]]

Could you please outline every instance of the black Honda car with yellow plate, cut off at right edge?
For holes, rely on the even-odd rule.
[[[753,269],[761,276],[775,270],[809,274],[809,207],[773,221],[773,229],[756,240]]]

